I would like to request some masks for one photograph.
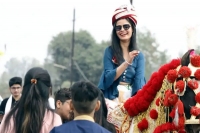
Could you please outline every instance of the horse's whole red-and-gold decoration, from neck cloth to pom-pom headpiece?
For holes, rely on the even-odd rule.
[[[108,121],[119,133],[186,133],[185,124],[199,124],[200,56],[191,54],[189,60],[188,66],[181,66],[181,59],[163,65],[134,97],[109,113]]]

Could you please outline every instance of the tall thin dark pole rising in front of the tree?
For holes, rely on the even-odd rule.
[[[73,29],[72,29],[72,44],[71,44],[71,67],[70,67],[70,86],[73,82],[73,57],[74,57],[74,34],[75,34],[75,8],[73,10]]]

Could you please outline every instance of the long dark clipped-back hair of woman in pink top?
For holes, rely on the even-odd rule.
[[[15,133],[39,133],[46,109],[53,112],[48,103],[50,87],[49,73],[40,67],[31,68],[25,75],[22,96],[8,113],[5,125],[13,118]]]

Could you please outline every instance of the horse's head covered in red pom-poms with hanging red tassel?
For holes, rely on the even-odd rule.
[[[197,118],[200,116],[200,55],[195,54],[193,49],[186,52],[181,58],[181,65],[170,70],[167,79],[172,83],[171,89],[174,94],[180,99],[171,112],[173,121],[177,126],[180,123],[182,126],[199,124]]]

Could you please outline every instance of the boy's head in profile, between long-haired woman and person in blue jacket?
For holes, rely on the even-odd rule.
[[[61,88],[54,93],[56,113],[60,115],[63,122],[73,119],[73,112],[70,108],[71,91],[68,88]]]

